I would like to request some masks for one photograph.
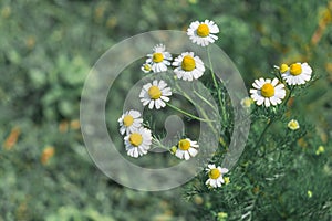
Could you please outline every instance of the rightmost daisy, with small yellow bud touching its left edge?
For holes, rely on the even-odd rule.
[[[308,63],[294,63],[289,67],[287,64],[282,65],[284,69],[280,69],[281,76],[289,85],[305,84],[311,78],[312,69]]]

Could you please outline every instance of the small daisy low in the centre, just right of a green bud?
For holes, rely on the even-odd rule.
[[[193,141],[189,138],[179,140],[177,145],[177,149],[175,151],[175,156],[188,160],[190,157],[195,157],[198,154],[198,144],[197,141]]]

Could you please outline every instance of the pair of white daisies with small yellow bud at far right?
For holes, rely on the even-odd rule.
[[[270,107],[281,104],[286,97],[286,84],[290,88],[303,85],[311,80],[312,69],[308,63],[281,64],[280,67],[274,67],[279,70],[280,80],[277,77],[273,80],[261,77],[255,80],[252,84],[251,98],[259,106]],[[246,101],[243,101],[245,103]]]

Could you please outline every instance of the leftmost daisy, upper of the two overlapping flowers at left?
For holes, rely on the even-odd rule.
[[[125,112],[118,119],[120,134],[128,134],[133,129],[139,128],[142,126],[143,119],[141,118],[141,113],[131,109]]]

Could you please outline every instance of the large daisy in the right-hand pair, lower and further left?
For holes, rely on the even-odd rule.
[[[272,81],[267,78],[255,80],[250,90],[251,98],[256,102],[257,105],[264,105],[269,107],[271,104],[276,106],[280,104],[286,96],[284,85],[278,84],[278,78]]]

